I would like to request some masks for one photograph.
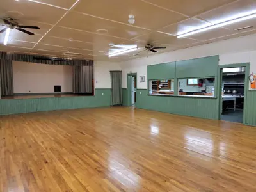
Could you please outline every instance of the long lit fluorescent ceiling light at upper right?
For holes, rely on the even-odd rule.
[[[236,23],[236,22],[241,22],[243,20],[253,19],[255,17],[256,17],[256,13],[254,13],[252,15],[247,15],[247,16],[244,16],[244,17],[239,17],[237,19],[228,20],[226,22],[221,22],[221,23],[214,24],[214,25],[206,27],[206,28],[202,28],[202,29],[198,29],[198,30],[195,30],[195,31],[190,31],[188,33],[178,35],[177,38],[182,38],[182,37],[185,37],[185,36],[194,35],[196,33],[201,33],[201,32],[204,32],[204,31],[211,30],[211,29],[220,28],[222,26],[227,26],[229,24],[233,24],[233,23]]]

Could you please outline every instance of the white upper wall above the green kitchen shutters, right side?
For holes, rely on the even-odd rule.
[[[256,73],[256,35],[241,36],[211,44],[164,52],[120,63],[122,68],[122,88],[127,88],[127,73],[137,72],[137,76],[145,76],[145,82],[137,81],[138,88],[147,88],[147,65],[189,60],[205,56],[220,56],[220,65],[250,62],[250,72]]]

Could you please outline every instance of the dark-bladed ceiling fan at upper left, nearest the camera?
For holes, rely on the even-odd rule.
[[[22,29],[22,28],[40,29],[38,26],[22,26],[22,25],[19,25],[19,23],[15,19],[12,19],[12,18],[2,19],[2,20],[4,21],[4,24],[2,26],[6,26],[6,28],[2,29],[0,31],[0,33],[4,33],[8,28],[10,28],[10,29],[17,29],[18,31],[21,31],[21,32],[26,33],[28,35],[34,35],[34,33],[30,32],[30,31],[27,31],[25,29]]]

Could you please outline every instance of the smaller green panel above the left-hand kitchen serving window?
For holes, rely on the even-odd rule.
[[[175,78],[175,62],[148,65],[148,80]]]

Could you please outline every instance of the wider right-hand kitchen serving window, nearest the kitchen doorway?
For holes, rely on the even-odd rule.
[[[178,94],[194,97],[214,97],[214,77],[179,79]]]

